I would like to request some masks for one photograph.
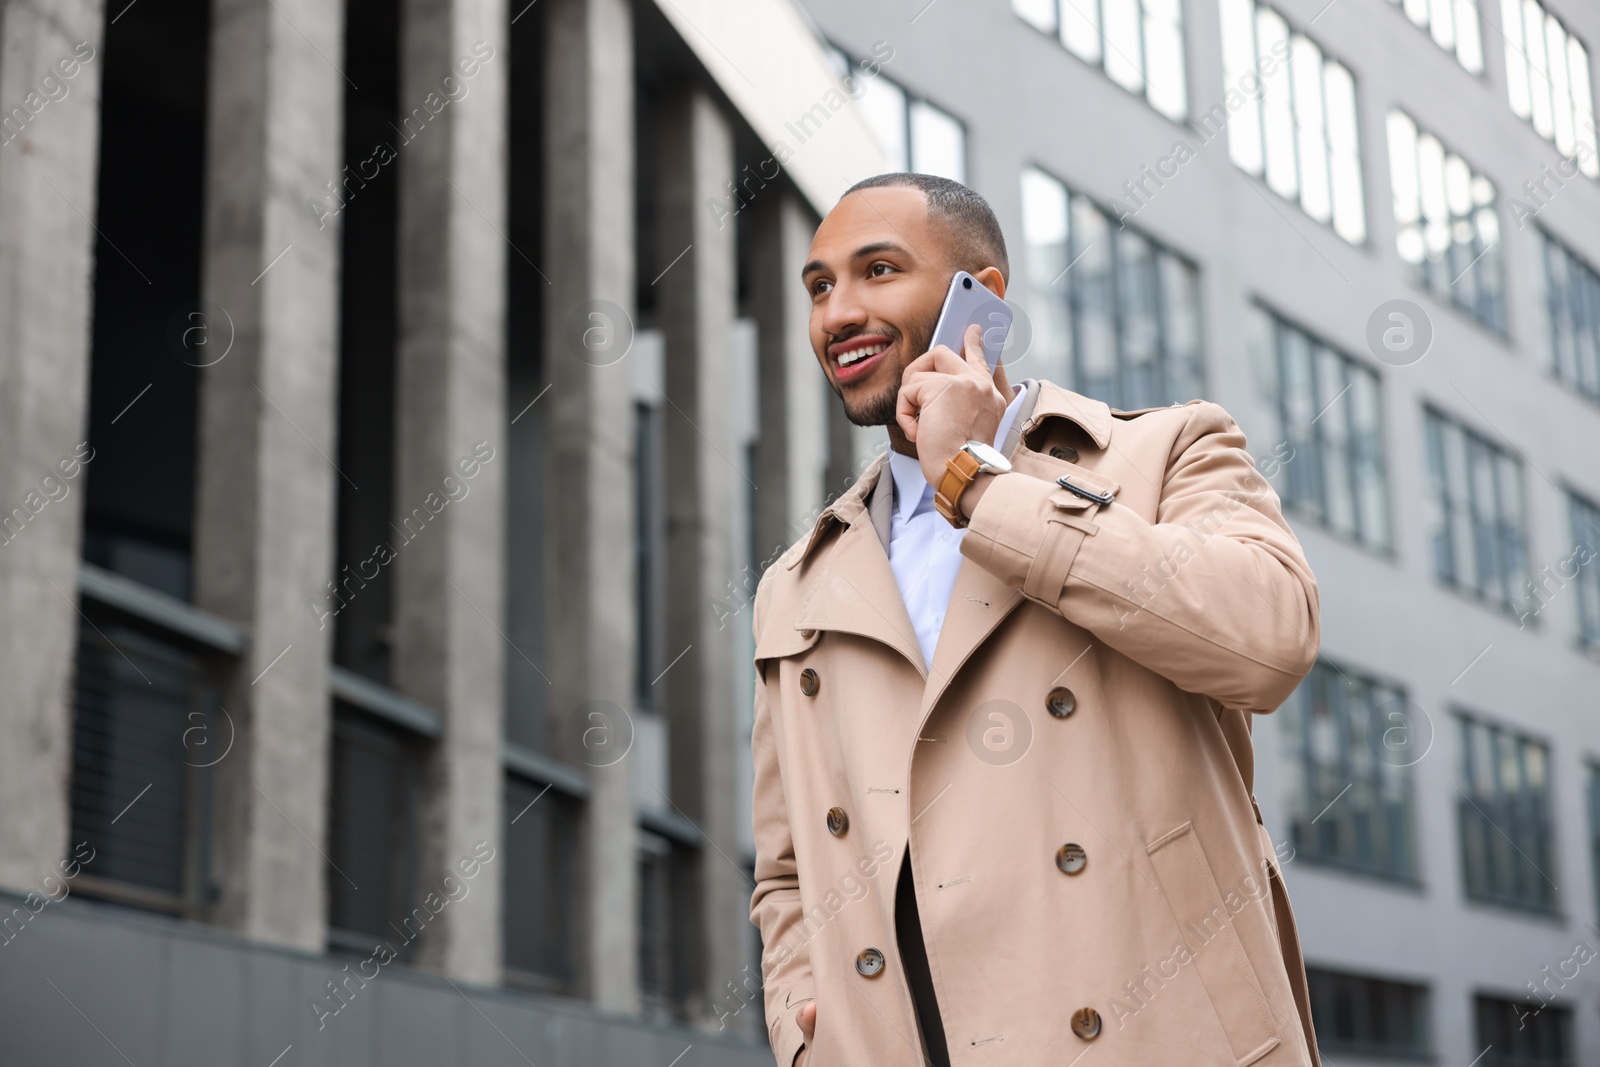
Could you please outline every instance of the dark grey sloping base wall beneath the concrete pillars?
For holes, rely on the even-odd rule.
[[[34,907],[38,907],[35,897]],[[24,897],[0,893],[0,915]],[[648,1025],[587,1005],[365,968],[338,1014],[314,1011],[326,984],[365,957],[272,949],[69,896],[0,944],[0,1062],[165,1067],[422,1067],[424,1064],[666,1064],[693,1048],[706,1067],[771,1062],[760,1046]],[[318,1022],[322,1029],[318,1029]]]

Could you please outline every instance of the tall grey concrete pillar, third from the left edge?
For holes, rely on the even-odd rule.
[[[445,721],[424,776],[421,897],[445,896],[478,841],[502,851],[510,54],[504,0],[405,0],[400,19],[394,683]],[[419,961],[498,982],[501,875],[458,907]]]

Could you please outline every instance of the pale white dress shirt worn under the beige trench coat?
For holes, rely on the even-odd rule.
[[[995,448],[1005,440],[1016,419],[1026,390],[1011,386],[1011,403],[995,430]],[[950,606],[955,571],[962,566],[965,530],[952,526],[933,506],[933,486],[922,474],[915,456],[902,456],[890,448],[890,472],[894,477],[894,510],[890,518],[890,568],[899,582],[906,614],[917,630],[922,657],[933,667],[933,649],[939,645],[944,611]]]

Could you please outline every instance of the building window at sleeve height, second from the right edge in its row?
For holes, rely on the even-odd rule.
[[[1424,411],[1434,480],[1434,574],[1517,611],[1528,581],[1522,462],[1454,419]]]

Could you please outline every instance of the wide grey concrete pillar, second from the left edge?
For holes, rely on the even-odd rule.
[[[322,949],[339,226],[309,206],[341,170],[344,5],[216,0],[206,118],[205,368],[195,603],[242,624],[224,694],[237,742],[216,766],[210,918]]]

